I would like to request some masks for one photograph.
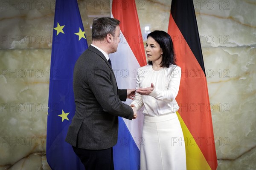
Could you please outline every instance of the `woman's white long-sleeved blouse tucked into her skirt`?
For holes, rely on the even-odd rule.
[[[145,106],[143,111],[147,116],[161,116],[174,113],[179,109],[175,100],[180,86],[181,69],[170,64],[169,68],[155,71],[152,65],[146,65],[137,70],[136,89],[150,87],[154,84],[154,90],[150,95],[136,93],[134,104],[136,109]]]

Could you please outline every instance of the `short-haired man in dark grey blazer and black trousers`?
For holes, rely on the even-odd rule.
[[[134,107],[123,104],[135,89],[118,89],[108,61],[117,51],[119,20],[102,17],[93,21],[92,44],[76,61],[73,88],[76,113],[66,141],[73,146],[86,170],[113,170],[118,116],[137,117]]]

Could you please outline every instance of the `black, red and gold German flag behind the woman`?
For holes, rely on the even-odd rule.
[[[217,157],[203,55],[192,0],[172,0],[168,34],[181,67],[177,115],[188,170],[216,170]]]

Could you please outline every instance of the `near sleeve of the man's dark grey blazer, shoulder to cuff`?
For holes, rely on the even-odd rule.
[[[132,108],[127,104],[123,104],[113,91],[113,88],[116,87],[116,82],[115,79],[111,81],[111,78],[113,79],[114,77],[112,74],[106,64],[99,63],[93,70],[90,70],[86,74],[87,80],[90,80],[88,81],[88,85],[104,112],[132,120]],[[121,91],[122,95],[120,96],[124,98],[124,90]]]

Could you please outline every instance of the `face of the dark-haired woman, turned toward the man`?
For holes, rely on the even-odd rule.
[[[148,37],[145,47],[148,61],[153,61],[157,63],[162,62],[163,50],[161,49],[159,43],[157,43],[152,37]]]

